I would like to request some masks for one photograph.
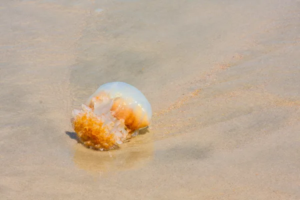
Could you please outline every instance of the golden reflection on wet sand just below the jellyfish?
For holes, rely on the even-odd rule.
[[[90,172],[109,172],[139,168],[153,159],[151,132],[131,138],[110,151],[91,150],[76,144],[73,161],[81,169]]]

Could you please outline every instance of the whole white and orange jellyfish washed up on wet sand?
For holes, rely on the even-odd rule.
[[[72,125],[79,141],[92,149],[117,148],[152,119],[146,97],[125,82],[101,85],[81,106],[72,111]]]

